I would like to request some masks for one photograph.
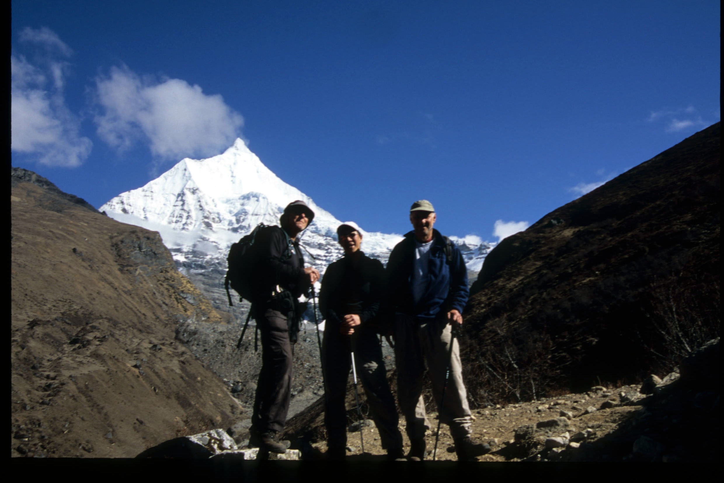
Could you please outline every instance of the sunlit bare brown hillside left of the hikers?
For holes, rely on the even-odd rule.
[[[243,410],[181,343],[218,322],[156,232],[12,169],[12,456],[133,457]]]

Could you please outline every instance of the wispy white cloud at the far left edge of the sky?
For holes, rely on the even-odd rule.
[[[48,28],[25,28],[20,41],[37,44],[41,52],[35,64],[22,55],[10,56],[11,149],[48,166],[80,166],[93,143],[80,136],[80,120],[65,106],[62,90],[69,64],[58,54],[72,51]]]

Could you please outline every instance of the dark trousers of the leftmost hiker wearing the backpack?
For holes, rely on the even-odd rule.
[[[256,319],[261,332],[261,372],[251,416],[252,431],[283,431],[292,387],[292,345],[287,317],[271,308]]]

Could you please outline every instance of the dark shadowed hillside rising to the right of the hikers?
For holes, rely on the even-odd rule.
[[[466,309],[471,398],[667,373],[719,333],[717,123],[503,240]]]

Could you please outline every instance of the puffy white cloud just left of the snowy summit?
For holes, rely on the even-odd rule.
[[[185,80],[141,79],[128,67],[113,67],[96,79],[98,135],[119,150],[143,140],[161,159],[206,157],[228,148],[244,119],[219,95],[206,95]]]

